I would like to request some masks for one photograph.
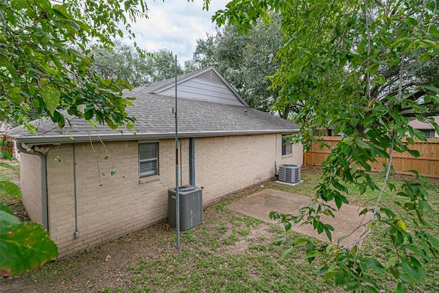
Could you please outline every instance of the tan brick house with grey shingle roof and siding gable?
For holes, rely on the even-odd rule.
[[[75,117],[65,130],[40,120],[36,135],[10,131],[21,147],[23,204],[60,257],[167,218],[176,182],[175,82],[126,95],[136,97],[128,109],[136,134],[95,130]],[[213,67],[178,77],[178,128],[182,183],[203,187],[203,204],[273,178],[278,165],[302,165],[301,145],[283,148],[283,134],[298,126],[249,108]]]

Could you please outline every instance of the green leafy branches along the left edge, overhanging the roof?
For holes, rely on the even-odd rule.
[[[103,78],[91,70],[95,47],[112,47],[123,25],[130,38],[130,21],[144,17],[144,0],[2,0],[0,1],[0,117],[2,122],[24,124],[50,117],[60,128],[64,113],[91,124],[116,129],[133,127],[121,96],[131,85],[119,78]],[[0,167],[10,167],[1,163]],[[21,197],[8,181],[0,189]],[[20,274],[58,255],[43,227],[20,223],[0,204],[0,274]]]

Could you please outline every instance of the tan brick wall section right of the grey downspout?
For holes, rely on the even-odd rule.
[[[278,165],[302,165],[299,145],[282,156],[280,134],[195,139],[195,185],[204,187],[204,204],[274,177],[276,153]]]

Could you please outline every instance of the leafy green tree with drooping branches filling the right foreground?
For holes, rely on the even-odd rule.
[[[320,257],[319,274],[346,285],[347,290],[378,292],[379,285],[367,275],[372,270],[394,277],[396,291],[405,292],[407,286],[422,281],[422,263],[438,254],[438,240],[429,233],[425,218],[431,210],[421,184],[426,179],[413,172],[414,180],[395,186],[388,178],[397,176],[392,169],[394,152],[418,156],[407,144],[425,140],[422,132],[408,125],[410,119],[425,121],[439,114],[437,3],[234,0],[214,19],[218,25],[227,21],[248,33],[257,19],[273,10],[282,19],[283,43],[278,51],[281,66],[272,82],[281,87],[277,106],[300,103],[294,119],[304,123],[295,141],[307,148],[316,141],[313,130],[326,126],[335,126],[335,132],[345,137],[323,163],[310,206],[298,216],[272,213],[272,217],[281,218],[287,229],[304,220],[331,240],[334,227],[321,222],[320,215],[333,215],[348,203],[345,194],[350,186],[360,194],[366,189],[379,191],[375,204],[361,211],[372,213],[361,239],[351,246],[336,242],[316,248],[308,243],[307,257],[311,261]],[[377,158],[388,159],[382,186],[368,173]],[[383,205],[386,185],[392,191],[388,195],[392,203]],[[336,209],[329,205],[333,201]],[[357,244],[380,229],[385,231],[385,237],[375,238],[382,248],[380,257],[359,253]]]

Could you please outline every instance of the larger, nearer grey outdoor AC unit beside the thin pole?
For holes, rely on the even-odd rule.
[[[176,227],[176,188],[168,189],[167,218],[171,226]],[[180,198],[180,231],[186,231],[203,222],[202,189],[193,185],[178,187]]]

